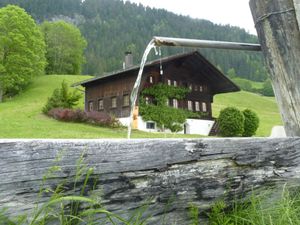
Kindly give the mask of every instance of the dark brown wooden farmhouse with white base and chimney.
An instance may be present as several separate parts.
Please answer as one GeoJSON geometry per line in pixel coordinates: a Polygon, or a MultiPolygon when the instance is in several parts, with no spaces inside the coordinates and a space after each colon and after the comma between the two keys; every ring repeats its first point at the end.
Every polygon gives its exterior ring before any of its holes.
{"type": "MultiPolygon", "coordinates": [[[[139,66],[132,66],[132,56],[125,56],[123,70],[92,78],[77,85],[85,87],[85,110],[102,111],[117,117],[124,125],[130,114],[130,93],[137,78],[139,66]]],[[[169,56],[145,65],[140,92],[158,83],[187,87],[191,91],[186,99],[169,99],[169,106],[194,112],[203,112],[204,119],[187,119],[184,133],[208,135],[213,127],[212,103],[215,94],[239,91],[239,87],[205,59],[199,52],[169,56]],[[160,67],[163,73],[160,73],[160,67]]],[[[151,96],[146,101],[151,102],[151,96]]],[[[143,121],[134,115],[135,129],[157,131],[153,121],[143,121]]]]}

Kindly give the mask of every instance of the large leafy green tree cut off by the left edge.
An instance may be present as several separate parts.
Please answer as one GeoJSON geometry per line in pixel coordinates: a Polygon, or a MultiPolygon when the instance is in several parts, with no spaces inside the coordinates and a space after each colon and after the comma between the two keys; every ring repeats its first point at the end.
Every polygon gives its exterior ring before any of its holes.
{"type": "Polygon", "coordinates": [[[44,73],[45,43],[34,20],[18,6],[0,9],[0,31],[0,89],[13,96],[44,73]]]}

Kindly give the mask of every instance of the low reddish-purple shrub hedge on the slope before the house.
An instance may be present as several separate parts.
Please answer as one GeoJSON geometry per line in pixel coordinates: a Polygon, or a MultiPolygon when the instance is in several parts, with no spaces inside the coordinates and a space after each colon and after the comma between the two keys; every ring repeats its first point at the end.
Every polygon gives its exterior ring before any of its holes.
{"type": "Polygon", "coordinates": [[[80,109],[62,109],[62,108],[54,108],[49,110],[47,113],[48,116],[65,122],[78,122],[78,123],[89,123],[97,126],[105,126],[105,127],[120,127],[120,122],[103,112],[85,112],[80,109]]]}

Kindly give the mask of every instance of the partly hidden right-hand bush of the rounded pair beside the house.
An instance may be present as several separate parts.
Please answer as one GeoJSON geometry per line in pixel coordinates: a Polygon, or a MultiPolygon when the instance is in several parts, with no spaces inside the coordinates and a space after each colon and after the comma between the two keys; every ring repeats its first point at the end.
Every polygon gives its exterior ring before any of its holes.
{"type": "Polygon", "coordinates": [[[245,117],[243,137],[251,137],[259,126],[259,118],[251,109],[245,109],[243,114],[245,117]]]}

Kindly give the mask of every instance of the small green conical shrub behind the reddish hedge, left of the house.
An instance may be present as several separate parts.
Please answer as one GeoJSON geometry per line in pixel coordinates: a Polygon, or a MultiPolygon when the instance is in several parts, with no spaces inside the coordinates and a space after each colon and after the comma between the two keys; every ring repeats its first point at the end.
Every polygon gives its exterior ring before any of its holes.
{"type": "Polygon", "coordinates": [[[81,94],[77,90],[73,92],[69,91],[68,84],[63,81],[61,83],[61,88],[56,88],[52,96],[48,98],[46,105],[43,108],[43,113],[47,114],[51,109],[63,108],[72,109],[77,105],[81,94]]]}

